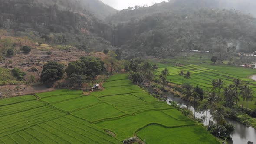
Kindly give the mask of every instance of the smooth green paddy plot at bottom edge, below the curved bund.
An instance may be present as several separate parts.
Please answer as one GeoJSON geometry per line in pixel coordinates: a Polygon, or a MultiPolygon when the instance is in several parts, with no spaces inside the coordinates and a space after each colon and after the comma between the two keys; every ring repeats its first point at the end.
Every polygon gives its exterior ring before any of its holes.
{"type": "Polygon", "coordinates": [[[200,125],[177,128],[150,125],[138,131],[137,135],[145,140],[147,144],[220,144],[210,133],[205,132],[200,125]]]}

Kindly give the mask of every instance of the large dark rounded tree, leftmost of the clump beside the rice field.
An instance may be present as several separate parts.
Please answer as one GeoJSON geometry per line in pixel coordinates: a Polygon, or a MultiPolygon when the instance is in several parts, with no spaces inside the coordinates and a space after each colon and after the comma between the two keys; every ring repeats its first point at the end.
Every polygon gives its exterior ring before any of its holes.
{"type": "Polygon", "coordinates": [[[59,79],[62,79],[64,75],[64,65],[57,62],[48,62],[43,65],[43,70],[41,73],[41,80],[44,84],[51,86],[53,83],[59,79]]]}

